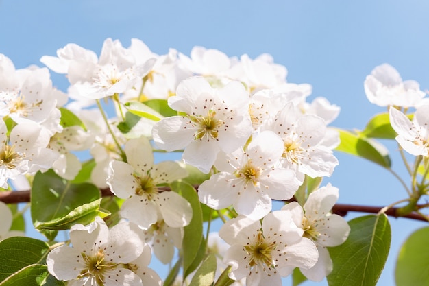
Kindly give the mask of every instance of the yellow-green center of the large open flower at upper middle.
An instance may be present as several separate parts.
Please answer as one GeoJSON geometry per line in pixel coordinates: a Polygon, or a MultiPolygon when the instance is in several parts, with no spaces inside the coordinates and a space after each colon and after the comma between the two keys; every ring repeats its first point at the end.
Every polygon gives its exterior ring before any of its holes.
{"type": "MultiPolygon", "coordinates": [[[[223,121],[216,118],[215,110],[208,110],[206,116],[194,116],[188,115],[189,119],[195,123],[197,132],[195,132],[195,139],[203,139],[204,136],[207,136],[207,139],[217,139],[219,134],[219,127],[223,125],[223,121]]],[[[194,125],[194,124],[193,124],[194,125]]]]}

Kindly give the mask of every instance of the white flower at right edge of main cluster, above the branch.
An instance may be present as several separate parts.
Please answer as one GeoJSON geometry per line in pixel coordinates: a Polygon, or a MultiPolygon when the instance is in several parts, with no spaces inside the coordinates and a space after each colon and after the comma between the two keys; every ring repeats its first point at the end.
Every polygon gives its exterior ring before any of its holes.
{"type": "Polygon", "coordinates": [[[266,127],[282,137],[284,150],[282,167],[294,169],[299,180],[304,174],[315,178],[330,176],[338,160],[332,151],[321,145],[326,135],[326,123],[315,115],[301,115],[289,102],[266,127]]]}

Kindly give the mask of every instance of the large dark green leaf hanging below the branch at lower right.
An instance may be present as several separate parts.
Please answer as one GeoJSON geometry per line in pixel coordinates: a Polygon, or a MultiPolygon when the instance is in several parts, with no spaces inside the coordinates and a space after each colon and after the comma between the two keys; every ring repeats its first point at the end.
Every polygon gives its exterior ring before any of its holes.
{"type": "Polygon", "coordinates": [[[366,215],[349,222],[345,243],[328,248],[334,263],[330,286],[376,285],[389,254],[391,228],[387,216],[366,215]]]}

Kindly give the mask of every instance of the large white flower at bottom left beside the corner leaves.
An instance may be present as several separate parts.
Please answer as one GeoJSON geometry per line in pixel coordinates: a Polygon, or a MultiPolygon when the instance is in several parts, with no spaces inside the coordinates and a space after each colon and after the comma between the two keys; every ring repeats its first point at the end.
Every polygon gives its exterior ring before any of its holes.
{"type": "Polygon", "coordinates": [[[58,280],[76,280],[73,285],[146,285],[134,261],[150,261],[150,252],[144,252],[145,237],[136,225],[123,222],[109,231],[96,217],[88,226],[72,226],[70,240],[73,247],[60,246],[47,257],[48,271],[58,280]]]}

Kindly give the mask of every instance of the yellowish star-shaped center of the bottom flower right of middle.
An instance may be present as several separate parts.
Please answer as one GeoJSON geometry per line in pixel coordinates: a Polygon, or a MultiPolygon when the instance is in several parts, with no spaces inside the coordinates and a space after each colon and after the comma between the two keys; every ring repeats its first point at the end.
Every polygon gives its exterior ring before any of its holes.
{"type": "Polygon", "coordinates": [[[256,235],[256,240],[253,245],[247,245],[244,247],[245,252],[250,255],[249,266],[253,267],[255,265],[275,265],[273,263],[273,255],[271,254],[275,250],[275,242],[265,241],[262,232],[259,231],[256,235]]]}

